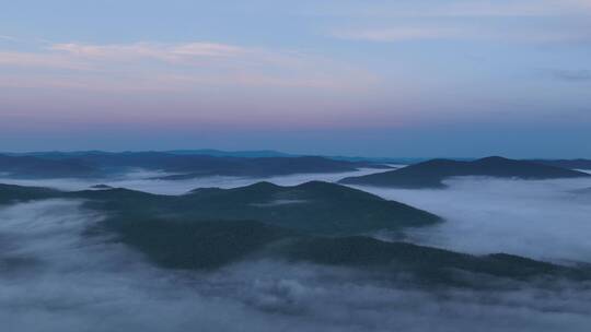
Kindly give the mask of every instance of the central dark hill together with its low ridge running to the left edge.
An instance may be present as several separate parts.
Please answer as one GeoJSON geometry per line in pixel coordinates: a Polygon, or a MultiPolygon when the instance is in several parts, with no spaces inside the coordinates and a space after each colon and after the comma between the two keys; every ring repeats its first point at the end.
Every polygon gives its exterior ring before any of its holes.
{"type": "MultiPolygon", "coordinates": [[[[123,188],[61,192],[7,186],[4,202],[70,198],[135,223],[165,218],[179,222],[254,220],[316,235],[357,235],[432,225],[441,218],[413,206],[344,186],[312,181],[293,187],[258,182],[234,189],[201,188],[183,195],[160,195],[123,188]]],[[[1,188],[0,188],[1,189],[1,188]]],[[[2,194],[3,193],[3,194],[2,194]]]]}

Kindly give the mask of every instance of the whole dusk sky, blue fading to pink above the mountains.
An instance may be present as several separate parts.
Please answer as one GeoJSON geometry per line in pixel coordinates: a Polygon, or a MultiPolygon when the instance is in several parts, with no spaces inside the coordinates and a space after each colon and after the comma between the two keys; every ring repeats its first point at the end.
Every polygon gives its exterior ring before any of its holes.
{"type": "Polygon", "coordinates": [[[0,7],[0,151],[591,157],[591,0],[0,7]]]}

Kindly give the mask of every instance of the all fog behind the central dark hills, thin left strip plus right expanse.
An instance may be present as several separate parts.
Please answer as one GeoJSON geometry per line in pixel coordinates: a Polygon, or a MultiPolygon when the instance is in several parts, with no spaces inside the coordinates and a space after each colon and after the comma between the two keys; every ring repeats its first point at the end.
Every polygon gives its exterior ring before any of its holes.
{"type": "MultiPolygon", "coordinates": [[[[181,194],[200,187],[235,188],[257,181],[293,186],[310,180],[336,181],[347,176],[383,171],[361,169],[334,174],[299,174],[269,178],[206,177],[190,180],[150,179],[162,175],[137,171],[108,181],[83,179],[0,182],[63,190],[97,183],[153,193],[181,194]]],[[[355,187],[436,213],[447,220],[436,227],[410,232],[409,240],[472,253],[507,252],[536,259],[591,262],[591,179],[515,180],[456,178],[447,189],[384,189],[355,187]]],[[[384,239],[384,235],[380,235],[384,239]]]]}

